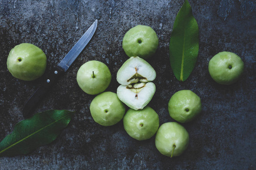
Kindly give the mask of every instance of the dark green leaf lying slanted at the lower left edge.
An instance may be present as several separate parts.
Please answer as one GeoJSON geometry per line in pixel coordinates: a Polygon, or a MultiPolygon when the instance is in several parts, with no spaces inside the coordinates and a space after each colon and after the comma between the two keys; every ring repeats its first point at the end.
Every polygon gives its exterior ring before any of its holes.
{"type": "Polygon", "coordinates": [[[69,122],[73,112],[51,110],[36,113],[14,126],[13,133],[0,143],[0,156],[28,154],[36,148],[53,142],[69,122]]]}

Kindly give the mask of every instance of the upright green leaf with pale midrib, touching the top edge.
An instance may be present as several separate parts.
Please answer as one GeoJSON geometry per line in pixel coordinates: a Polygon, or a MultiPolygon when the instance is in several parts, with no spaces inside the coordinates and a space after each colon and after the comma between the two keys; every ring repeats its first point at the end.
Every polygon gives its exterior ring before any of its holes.
{"type": "Polygon", "coordinates": [[[174,75],[185,81],[196,65],[199,52],[199,29],[187,0],[176,16],[169,49],[174,75]]]}

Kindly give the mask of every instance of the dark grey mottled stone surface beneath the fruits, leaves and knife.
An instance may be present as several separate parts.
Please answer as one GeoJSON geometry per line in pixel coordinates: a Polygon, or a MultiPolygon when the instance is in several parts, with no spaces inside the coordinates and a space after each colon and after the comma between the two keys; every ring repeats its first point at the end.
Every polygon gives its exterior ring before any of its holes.
{"type": "Polygon", "coordinates": [[[67,73],[49,91],[36,112],[48,109],[76,111],[59,138],[29,155],[0,158],[1,169],[255,169],[255,1],[191,0],[199,24],[199,57],[185,82],[172,73],[168,47],[172,27],[184,1],[7,1],[0,0],[0,140],[23,120],[22,107],[40,85],[11,76],[6,66],[10,50],[22,42],[39,46],[47,55],[47,71],[67,54],[85,30],[98,19],[98,28],[67,73]],[[116,92],[117,71],[127,56],[122,38],[137,24],[149,25],[159,37],[159,48],[148,62],[157,73],[150,107],[160,124],[174,121],[168,101],[179,90],[201,97],[203,112],[183,124],[190,141],[177,158],[161,155],[154,138],[136,141],[117,125],[96,124],[89,112],[92,95],[76,82],[82,63],[96,59],[109,66],[113,79],[107,91],[116,92]],[[245,62],[242,78],[221,86],[210,78],[208,62],[230,51],[245,62]]]}

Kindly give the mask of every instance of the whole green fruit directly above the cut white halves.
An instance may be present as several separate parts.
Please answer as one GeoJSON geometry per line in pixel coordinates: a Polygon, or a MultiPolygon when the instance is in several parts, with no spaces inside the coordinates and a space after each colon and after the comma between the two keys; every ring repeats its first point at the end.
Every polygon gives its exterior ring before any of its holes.
{"type": "Polygon", "coordinates": [[[139,56],[147,59],[152,57],[158,48],[158,36],[151,27],[137,25],[125,33],[122,47],[129,57],[139,56]]]}

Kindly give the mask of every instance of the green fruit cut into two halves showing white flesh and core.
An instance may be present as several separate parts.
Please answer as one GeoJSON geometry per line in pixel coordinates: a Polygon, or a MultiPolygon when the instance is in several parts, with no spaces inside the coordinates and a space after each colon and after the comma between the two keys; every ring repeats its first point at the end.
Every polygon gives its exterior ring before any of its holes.
{"type": "Polygon", "coordinates": [[[153,67],[140,57],[130,57],[117,71],[118,98],[128,107],[143,109],[155,94],[156,78],[153,67]]]}

